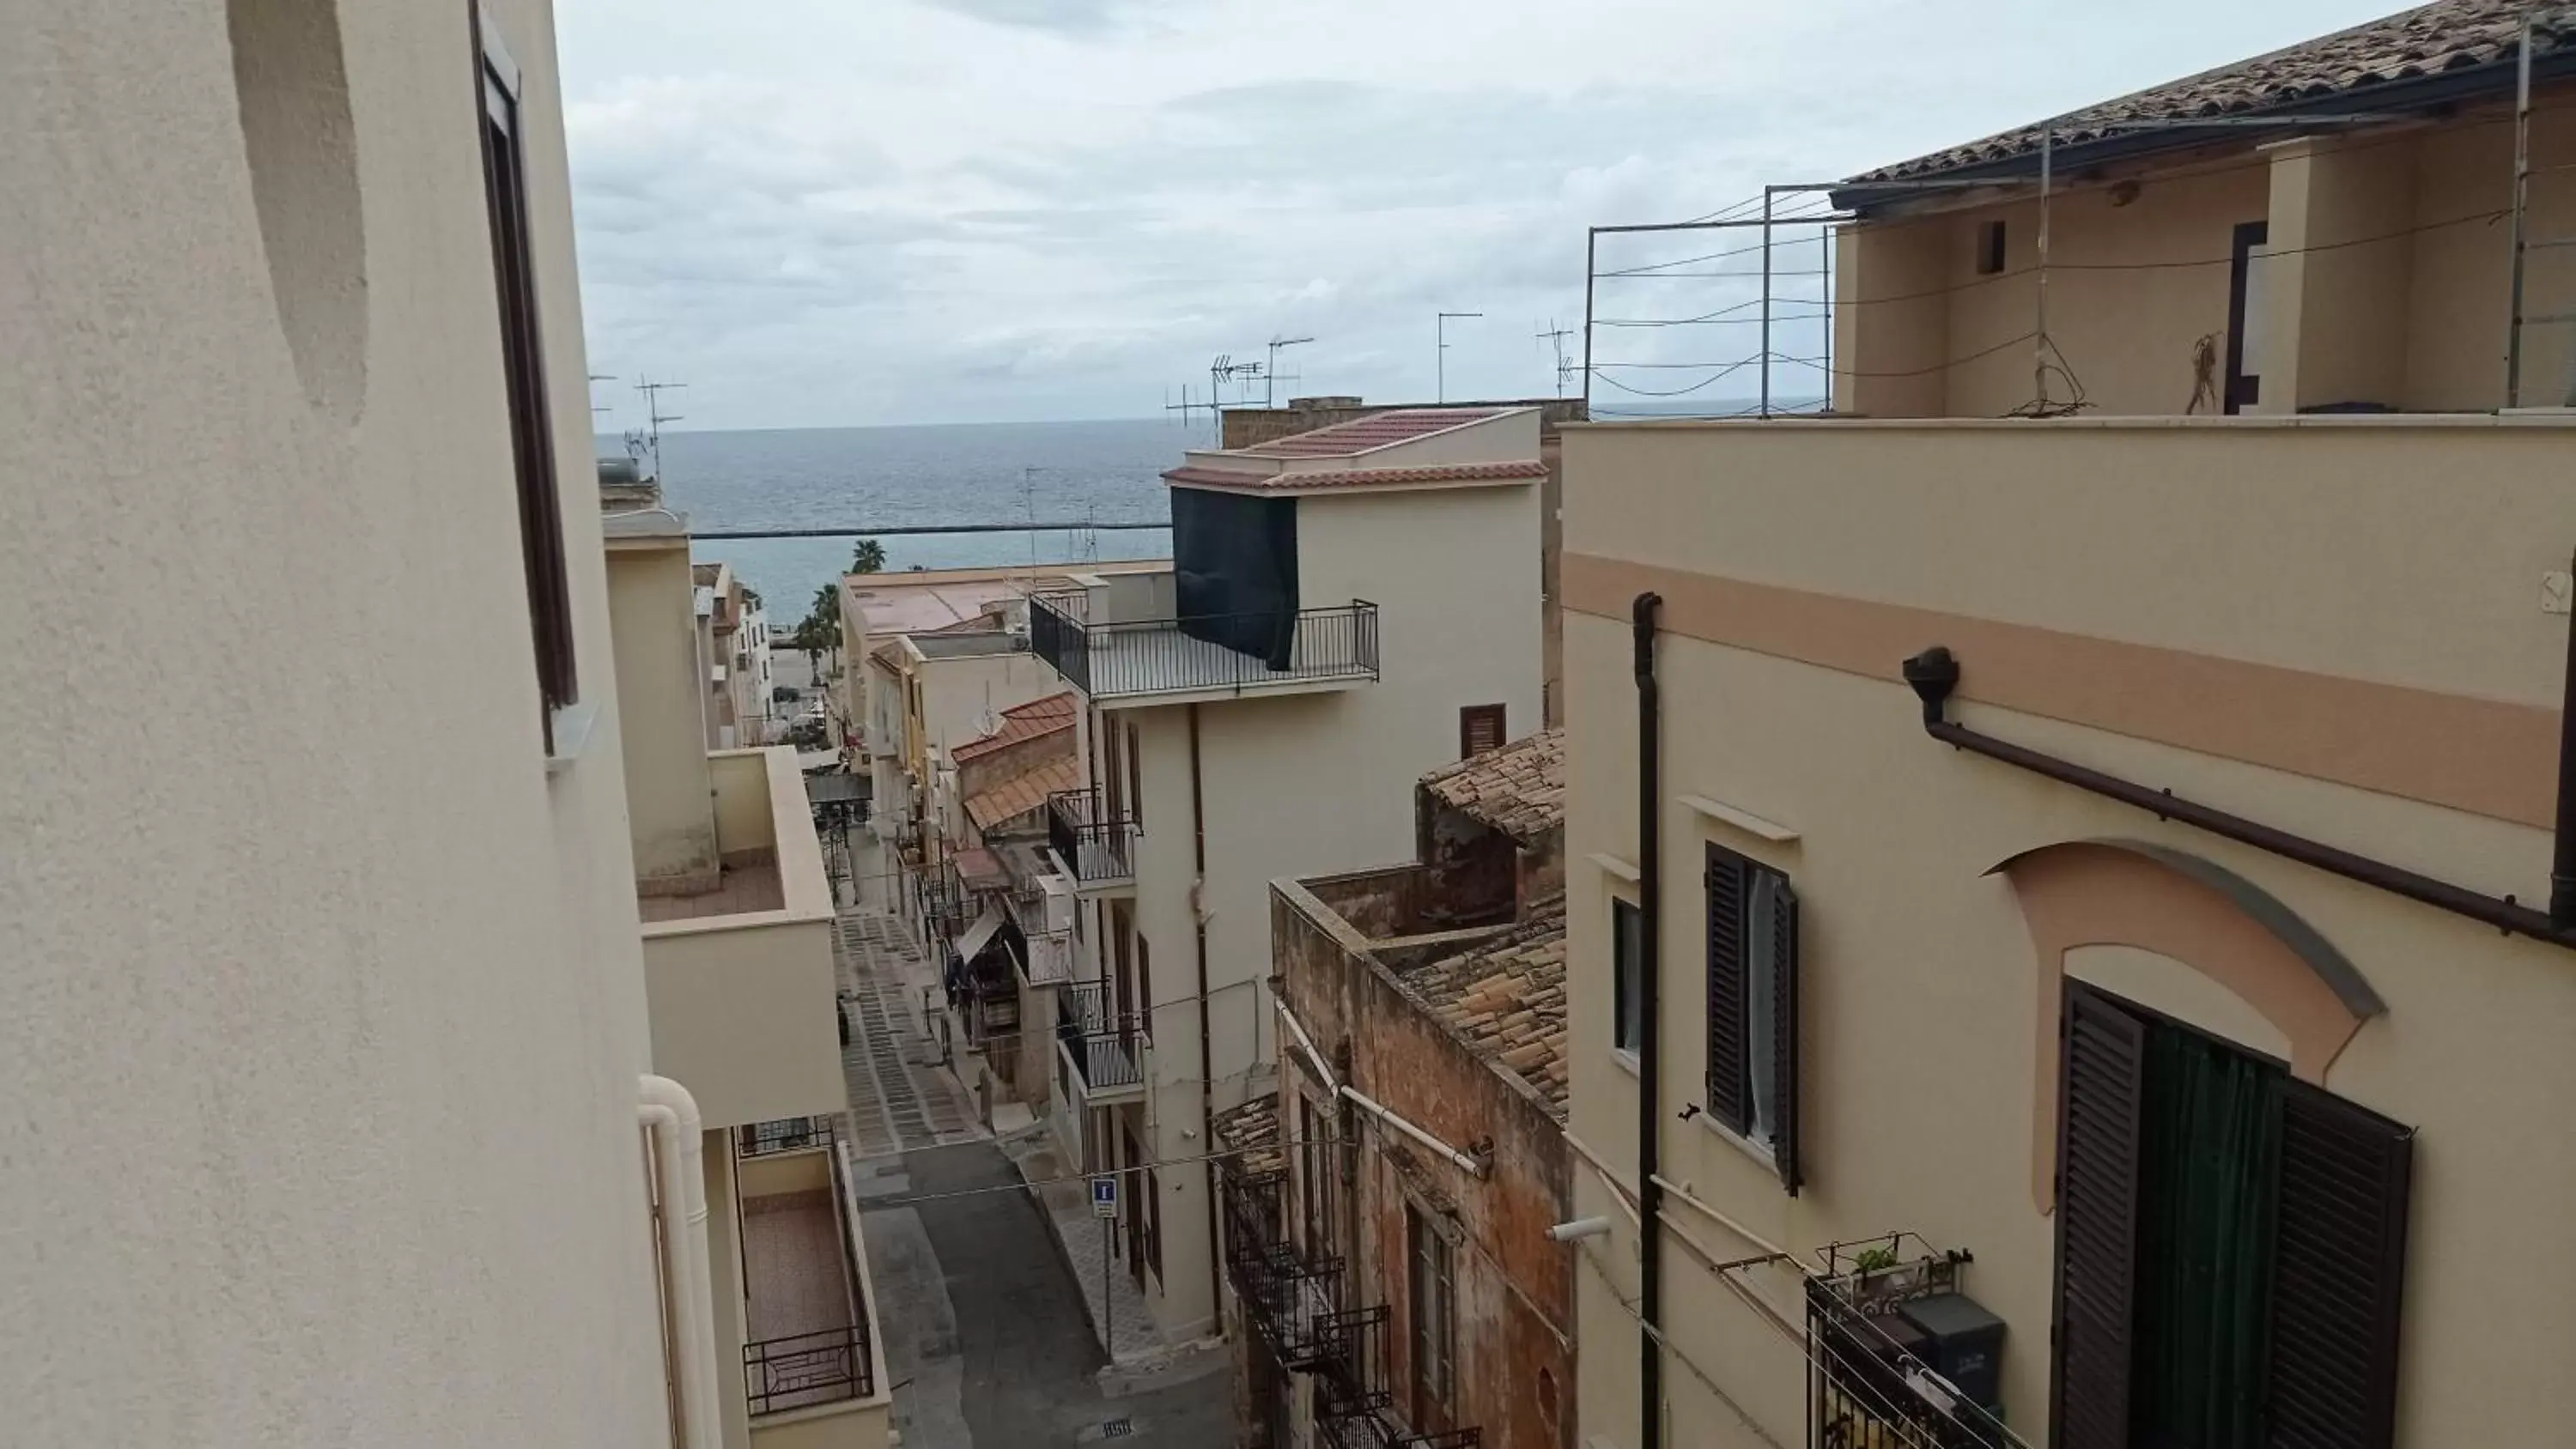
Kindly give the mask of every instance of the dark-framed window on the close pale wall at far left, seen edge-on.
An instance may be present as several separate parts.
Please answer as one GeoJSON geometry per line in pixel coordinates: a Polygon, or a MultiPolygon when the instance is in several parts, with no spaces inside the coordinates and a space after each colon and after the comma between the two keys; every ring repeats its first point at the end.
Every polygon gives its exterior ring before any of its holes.
{"type": "Polygon", "coordinates": [[[474,39],[484,106],[484,219],[492,226],[502,389],[510,407],[510,461],[518,476],[518,546],[528,571],[538,721],[551,754],[554,710],[580,700],[580,679],[572,649],[572,584],[564,569],[564,510],[554,484],[546,345],[536,319],[536,260],[528,245],[528,157],[520,142],[518,67],[510,64],[500,39],[484,31],[479,13],[474,39]]]}

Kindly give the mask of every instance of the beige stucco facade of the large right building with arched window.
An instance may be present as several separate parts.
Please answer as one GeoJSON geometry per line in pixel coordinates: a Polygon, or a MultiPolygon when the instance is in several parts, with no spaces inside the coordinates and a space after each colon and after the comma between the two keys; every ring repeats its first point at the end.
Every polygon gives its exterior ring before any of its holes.
{"type": "MultiPolygon", "coordinates": [[[[1803,592],[1767,595],[1780,618],[1829,607],[1811,602],[1824,597],[2043,625],[2074,636],[2071,674],[2099,638],[2555,705],[2568,625],[2540,613],[2537,579],[2576,535],[2555,463],[2566,450],[2566,430],[2491,422],[1589,430],[1566,443],[1566,548],[1803,592]]],[[[1628,623],[1602,618],[1602,605],[1625,610],[1625,592],[1605,574],[1592,613],[1566,623],[1577,862],[1636,857],[1628,623]]],[[[1793,1251],[1888,1228],[1973,1251],[1968,1289],[2009,1323],[2007,1418],[2043,1441],[2053,1225],[2032,1194],[2040,963],[2012,885],[1986,870],[2069,839],[2159,842],[2277,896],[2388,1001],[2326,1086],[2419,1130],[2398,1441],[2548,1436],[2576,1410],[2548,1336],[2501,1328],[2550,1323],[2571,1277],[2496,1251],[2545,1235],[2576,1192],[2576,1156],[2555,1145],[2576,1094],[2561,1050],[2576,1029],[2566,952],[1942,749],[1893,656],[1855,672],[1783,643],[1672,633],[1659,661],[1669,795],[1798,834],[1767,842],[1667,803],[1664,1104],[1703,1099],[1703,842],[1793,875],[1808,993],[1806,1192],[1785,1197],[1765,1163],[1682,1122],[1662,1138],[1669,1179],[1793,1251]]],[[[2476,891],[2545,891],[2548,836],[2527,824],[1984,705],[1978,656],[1960,664],[1953,713],[1976,728],[2476,891]]],[[[2123,708],[2146,718],[2143,700],[2123,708]]],[[[2208,697],[2208,710],[2231,708],[2244,703],[2208,697]]],[[[2483,741],[2424,749],[2473,754],[2483,741]]],[[[1636,1086],[1607,1053],[1605,1011],[1618,893],[1633,885],[1577,865],[1571,1130],[1633,1168],[1636,1086]]],[[[2076,975],[2277,1048],[2244,1001],[2169,960],[2074,955],[2076,975]]],[[[1618,1215],[1589,1174],[1577,1197],[1577,1212],[1618,1215]]],[[[1754,1251],[1680,1215],[1721,1253],[1754,1251]]],[[[1620,1307],[1636,1292],[1631,1243],[1620,1220],[1579,1271],[1582,1431],[1613,1444],[1636,1439],[1636,1325],[1620,1307]]],[[[1677,1349],[1795,1441],[1795,1349],[1731,1297],[1700,1292],[1703,1277],[1667,1251],[1677,1349]]],[[[1765,1289],[1795,1305],[1785,1274],[1765,1289]]],[[[1669,1444],[1754,1444],[1690,1372],[1664,1382],[1669,1444]]]]}

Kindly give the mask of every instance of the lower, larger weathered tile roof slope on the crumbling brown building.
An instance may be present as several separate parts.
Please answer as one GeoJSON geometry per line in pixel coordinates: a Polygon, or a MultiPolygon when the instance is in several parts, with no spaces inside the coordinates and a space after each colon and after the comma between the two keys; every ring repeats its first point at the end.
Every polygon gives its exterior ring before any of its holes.
{"type": "Polygon", "coordinates": [[[1566,1120],[1566,898],[1551,896],[1510,932],[1401,975],[1494,1071],[1530,1084],[1566,1120]]]}

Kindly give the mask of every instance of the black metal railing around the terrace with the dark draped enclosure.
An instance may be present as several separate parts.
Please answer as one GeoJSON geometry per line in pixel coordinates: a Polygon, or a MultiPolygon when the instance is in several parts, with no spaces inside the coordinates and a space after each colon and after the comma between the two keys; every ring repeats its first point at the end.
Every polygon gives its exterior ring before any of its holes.
{"type": "Polygon", "coordinates": [[[1095,700],[1378,677],[1378,605],[1365,600],[1087,623],[1072,597],[1038,595],[1028,605],[1028,638],[1038,659],[1095,700]]]}

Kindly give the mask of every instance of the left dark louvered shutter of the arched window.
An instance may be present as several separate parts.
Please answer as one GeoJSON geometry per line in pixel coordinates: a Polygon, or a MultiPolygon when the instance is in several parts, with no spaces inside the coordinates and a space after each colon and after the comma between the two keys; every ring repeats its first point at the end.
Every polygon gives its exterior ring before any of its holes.
{"type": "Polygon", "coordinates": [[[2146,1022],[2069,981],[2058,1058],[2050,1441],[2056,1449],[2128,1449],[2146,1022]]]}

